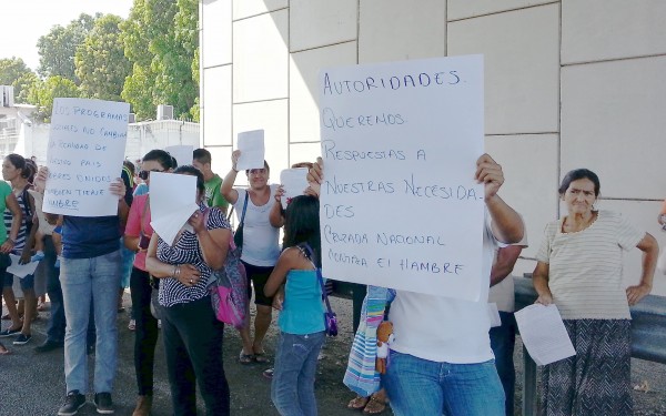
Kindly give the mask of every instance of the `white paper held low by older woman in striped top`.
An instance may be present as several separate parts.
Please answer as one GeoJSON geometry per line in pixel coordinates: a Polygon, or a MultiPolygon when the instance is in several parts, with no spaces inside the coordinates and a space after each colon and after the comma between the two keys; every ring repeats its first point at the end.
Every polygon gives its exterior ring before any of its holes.
{"type": "Polygon", "coordinates": [[[537,365],[576,355],[555,304],[529,305],[515,313],[523,344],[537,365]]]}

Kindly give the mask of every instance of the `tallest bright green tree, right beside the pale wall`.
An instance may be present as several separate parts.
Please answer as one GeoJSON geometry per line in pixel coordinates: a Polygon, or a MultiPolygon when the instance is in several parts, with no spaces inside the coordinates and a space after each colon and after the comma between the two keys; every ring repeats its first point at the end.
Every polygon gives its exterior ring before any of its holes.
{"type": "Polygon", "coordinates": [[[198,49],[198,0],[134,0],[121,24],[125,55],[133,63],[122,98],[138,119],[155,116],[158,104],[190,116],[199,97],[192,62],[198,49]]]}

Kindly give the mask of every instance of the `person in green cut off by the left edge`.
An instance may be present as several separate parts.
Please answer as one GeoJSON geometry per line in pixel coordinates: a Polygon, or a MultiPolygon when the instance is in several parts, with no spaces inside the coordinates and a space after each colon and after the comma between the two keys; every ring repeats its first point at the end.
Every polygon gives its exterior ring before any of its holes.
{"type": "MultiPolygon", "coordinates": [[[[10,262],[9,253],[11,253],[16,245],[16,241],[19,239],[18,236],[23,219],[17,196],[12,192],[11,186],[4,181],[0,181],[0,211],[9,211],[12,220],[9,230],[7,229],[4,221],[0,222],[0,283],[2,283],[0,284],[0,287],[4,287],[3,282],[10,262]]],[[[1,297],[2,291],[0,291],[0,305],[2,304],[1,297]]],[[[0,355],[7,354],[9,354],[9,349],[0,343],[0,355]]]]}

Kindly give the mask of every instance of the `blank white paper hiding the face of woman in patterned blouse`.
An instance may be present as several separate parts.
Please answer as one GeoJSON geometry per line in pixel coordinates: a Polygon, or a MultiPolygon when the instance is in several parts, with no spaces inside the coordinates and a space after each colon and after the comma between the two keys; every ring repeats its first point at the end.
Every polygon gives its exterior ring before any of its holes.
{"type": "Polygon", "coordinates": [[[150,174],[150,225],[169,245],[178,232],[185,227],[190,215],[199,209],[196,176],[152,172],[150,174]]]}

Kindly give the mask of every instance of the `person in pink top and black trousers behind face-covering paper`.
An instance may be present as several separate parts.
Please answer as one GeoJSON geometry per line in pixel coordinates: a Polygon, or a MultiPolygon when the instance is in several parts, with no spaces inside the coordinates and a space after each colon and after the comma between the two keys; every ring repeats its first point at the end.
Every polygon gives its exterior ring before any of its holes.
{"type": "MultiPolygon", "coordinates": [[[[171,172],[173,158],[163,150],[151,150],[143,156],[142,171],[139,175],[150,186],[151,172],[171,172]]],[[[132,295],[132,311],[135,319],[134,334],[134,372],[137,374],[138,398],[137,408],[132,416],[148,416],[152,408],[153,398],[153,367],[155,346],[158,344],[158,319],[150,312],[153,288],[158,288],[159,280],[151,280],[145,268],[145,253],[148,242],[153,234],[150,225],[149,194],[134,196],[128,224],[124,232],[124,246],[137,253],[130,290],[132,295]]]]}

